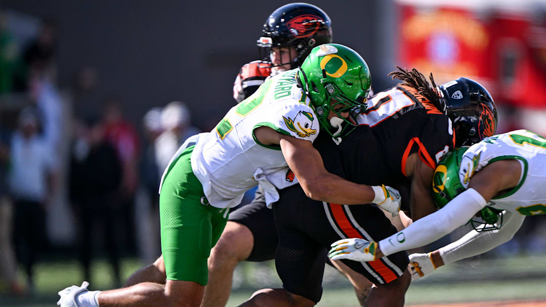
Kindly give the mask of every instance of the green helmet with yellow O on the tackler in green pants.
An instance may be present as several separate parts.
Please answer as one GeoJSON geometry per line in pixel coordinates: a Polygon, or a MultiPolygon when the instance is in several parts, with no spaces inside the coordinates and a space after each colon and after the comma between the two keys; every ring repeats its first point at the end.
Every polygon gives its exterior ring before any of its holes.
{"type": "Polygon", "coordinates": [[[355,116],[366,110],[371,78],[366,61],[356,51],[340,44],[314,47],[301,64],[298,78],[319,123],[332,137],[343,137],[357,126],[355,116]],[[337,118],[329,121],[330,111],[337,118]],[[349,118],[342,112],[349,112],[349,118]]]}

